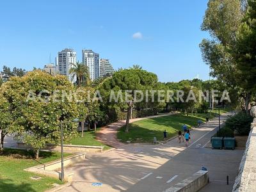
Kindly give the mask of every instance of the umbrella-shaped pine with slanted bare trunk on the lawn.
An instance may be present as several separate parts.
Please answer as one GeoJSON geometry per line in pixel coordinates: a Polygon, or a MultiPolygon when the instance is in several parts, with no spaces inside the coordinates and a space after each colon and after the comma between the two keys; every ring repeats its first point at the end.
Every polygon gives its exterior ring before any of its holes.
{"type": "MultiPolygon", "coordinates": [[[[126,132],[129,131],[129,119],[131,118],[132,108],[136,107],[136,102],[133,100],[136,94],[136,90],[152,90],[156,88],[157,76],[146,70],[140,68],[129,68],[118,70],[113,74],[113,77],[109,77],[100,88],[102,98],[104,99],[103,106],[111,106],[111,108],[124,108],[127,109],[127,124],[126,132]],[[121,92],[122,99],[118,99],[117,102],[109,102],[111,90],[117,93],[121,92]],[[125,101],[125,92],[129,90],[130,97],[125,101]],[[129,101],[130,100],[130,101],[129,101]]],[[[145,94],[144,94],[145,96],[145,94]]]]}

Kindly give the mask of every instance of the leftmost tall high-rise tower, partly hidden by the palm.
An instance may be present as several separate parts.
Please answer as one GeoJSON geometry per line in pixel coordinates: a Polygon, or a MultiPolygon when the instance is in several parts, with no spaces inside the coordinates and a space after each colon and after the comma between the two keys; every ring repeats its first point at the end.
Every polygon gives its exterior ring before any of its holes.
{"type": "Polygon", "coordinates": [[[70,68],[73,67],[72,63],[76,63],[76,51],[73,49],[63,49],[58,52],[58,58],[56,58],[57,73],[63,76],[67,76],[69,81],[76,81],[72,79],[72,74],[69,74],[70,68]]]}

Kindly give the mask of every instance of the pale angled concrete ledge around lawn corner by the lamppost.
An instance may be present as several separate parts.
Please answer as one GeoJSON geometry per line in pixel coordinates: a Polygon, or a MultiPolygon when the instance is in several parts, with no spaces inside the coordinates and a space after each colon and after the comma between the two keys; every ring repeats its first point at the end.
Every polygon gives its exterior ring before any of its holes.
{"type": "MultiPolygon", "coordinates": [[[[70,166],[71,164],[77,163],[79,161],[83,161],[84,159],[85,159],[85,154],[78,154],[78,155],[66,157],[63,163],[64,163],[64,166],[70,166]]],[[[39,164],[30,168],[26,168],[24,169],[24,171],[60,179],[61,172],[58,171],[60,170],[60,168],[61,168],[61,160],[58,159],[56,161],[51,161],[49,163],[39,164]]],[[[68,174],[66,173],[64,175],[64,180],[66,182],[72,182],[72,175],[73,173],[68,173],[68,174]]]]}

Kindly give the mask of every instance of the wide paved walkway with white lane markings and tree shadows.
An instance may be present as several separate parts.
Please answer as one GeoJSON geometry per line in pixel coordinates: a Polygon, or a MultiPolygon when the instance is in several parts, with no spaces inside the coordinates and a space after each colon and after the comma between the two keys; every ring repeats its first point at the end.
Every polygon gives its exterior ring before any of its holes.
{"type": "Polygon", "coordinates": [[[205,148],[217,129],[218,118],[194,129],[189,147],[175,139],[164,145],[122,145],[102,154],[88,153],[86,160],[67,168],[65,173],[73,172],[74,181],[61,191],[163,191],[202,166],[209,170],[211,181],[202,191],[231,191],[244,150],[205,148]],[[225,186],[227,175],[230,186],[225,186]]]}

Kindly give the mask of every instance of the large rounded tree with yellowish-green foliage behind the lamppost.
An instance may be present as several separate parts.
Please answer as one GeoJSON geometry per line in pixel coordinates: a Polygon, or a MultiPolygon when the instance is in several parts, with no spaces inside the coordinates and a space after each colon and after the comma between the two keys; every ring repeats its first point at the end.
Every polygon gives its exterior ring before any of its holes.
{"type": "Polygon", "coordinates": [[[76,132],[77,124],[70,123],[78,116],[72,95],[70,99],[74,86],[66,77],[34,70],[23,77],[11,77],[3,86],[12,109],[12,132],[35,149],[36,158],[46,143],[60,142],[61,121],[65,140],[76,132]]]}

